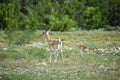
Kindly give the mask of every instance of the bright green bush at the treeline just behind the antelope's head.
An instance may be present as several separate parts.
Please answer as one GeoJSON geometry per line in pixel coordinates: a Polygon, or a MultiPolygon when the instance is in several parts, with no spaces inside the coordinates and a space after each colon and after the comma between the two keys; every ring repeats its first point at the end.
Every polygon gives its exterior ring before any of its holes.
{"type": "Polygon", "coordinates": [[[73,28],[77,28],[77,22],[73,19],[70,19],[68,15],[64,16],[50,16],[50,25],[51,30],[59,31],[69,31],[73,28]]]}

